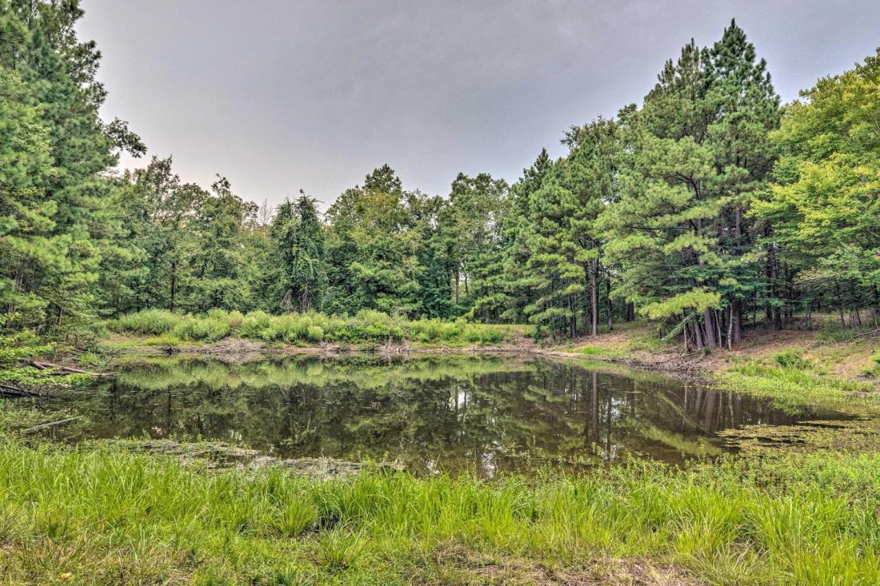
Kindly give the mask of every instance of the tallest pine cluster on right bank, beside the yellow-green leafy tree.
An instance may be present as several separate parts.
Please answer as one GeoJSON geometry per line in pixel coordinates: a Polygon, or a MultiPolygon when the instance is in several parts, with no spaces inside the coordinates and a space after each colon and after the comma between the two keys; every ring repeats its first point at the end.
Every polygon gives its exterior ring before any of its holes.
{"type": "Polygon", "coordinates": [[[697,348],[737,341],[741,300],[760,286],[743,216],[766,182],[778,104],[766,63],[731,23],[712,49],[686,45],[627,114],[620,198],[600,221],[606,251],[625,266],[629,300],[697,348]]]}

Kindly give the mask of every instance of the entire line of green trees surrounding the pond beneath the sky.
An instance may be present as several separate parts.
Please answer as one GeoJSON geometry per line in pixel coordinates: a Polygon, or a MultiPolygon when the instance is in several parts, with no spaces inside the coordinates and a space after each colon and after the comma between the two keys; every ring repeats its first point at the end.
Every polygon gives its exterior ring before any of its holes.
{"type": "Polygon", "coordinates": [[[0,0],[0,303],[5,332],[62,336],[145,308],[531,323],[574,337],[642,315],[688,348],[744,327],[880,309],[880,53],[783,106],[731,22],[686,44],[641,105],[564,133],[512,185],[449,194],[389,165],[321,213],[180,180],[102,121],[78,3],[0,0]]]}

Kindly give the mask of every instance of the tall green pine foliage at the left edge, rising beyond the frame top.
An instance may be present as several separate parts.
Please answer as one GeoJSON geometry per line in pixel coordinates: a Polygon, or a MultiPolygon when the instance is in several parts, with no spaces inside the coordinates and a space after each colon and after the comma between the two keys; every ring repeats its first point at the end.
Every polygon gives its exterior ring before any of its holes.
{"type": "Polygon", "coordinates": [[[0,4],[4,329],[84,333],[136,255],[118,245],[119,194],[103,172],[117,148],[138,156],[143,145],[124,122],[99,119],[106,92],[97,48],[77,40],[82,14],[76,1],[0,4]]]}

